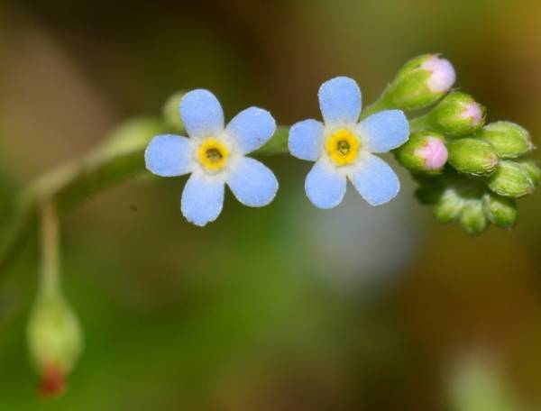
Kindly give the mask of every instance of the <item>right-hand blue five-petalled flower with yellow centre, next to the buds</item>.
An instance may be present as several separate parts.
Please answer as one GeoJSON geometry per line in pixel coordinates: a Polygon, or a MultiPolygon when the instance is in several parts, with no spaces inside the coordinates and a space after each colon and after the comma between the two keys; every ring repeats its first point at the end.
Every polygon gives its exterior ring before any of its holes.
{"type": "Polygon", "coordinates": [[[305,182],[310,201],[319,208],[339,205],[349,179],[369,204],[389,202],[399,193],[399,178],[374,153],[390,151],[408,141],[404,113],[385,110],[359,123],[361,90],[351,78],[327,81],[318,96],[325,123],[305,120],[289,130],[291,154],[316,161],[305,182]]]}

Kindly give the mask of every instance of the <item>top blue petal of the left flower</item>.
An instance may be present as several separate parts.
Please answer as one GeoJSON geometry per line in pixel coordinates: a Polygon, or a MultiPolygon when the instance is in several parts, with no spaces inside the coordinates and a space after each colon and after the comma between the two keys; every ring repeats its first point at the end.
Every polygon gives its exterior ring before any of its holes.
{"type": "Polygon", "coordinates": [[[206,137],[224,130],[222,105],[208,90],[193,90],[182,97],[180,118],[190,137],[206,137]]]}

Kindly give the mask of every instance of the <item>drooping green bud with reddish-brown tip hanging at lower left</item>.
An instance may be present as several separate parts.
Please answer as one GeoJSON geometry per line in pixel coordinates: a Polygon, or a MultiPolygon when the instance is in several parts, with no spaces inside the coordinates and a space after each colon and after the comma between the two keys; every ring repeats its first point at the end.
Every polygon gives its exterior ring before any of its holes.
{"type": "Polygon", "coordinates": [[[81,352],[77,316],[58,293],[38,297],[28,324],[28,345],[41,374],[41,394],[55,396],[81,352]]]}

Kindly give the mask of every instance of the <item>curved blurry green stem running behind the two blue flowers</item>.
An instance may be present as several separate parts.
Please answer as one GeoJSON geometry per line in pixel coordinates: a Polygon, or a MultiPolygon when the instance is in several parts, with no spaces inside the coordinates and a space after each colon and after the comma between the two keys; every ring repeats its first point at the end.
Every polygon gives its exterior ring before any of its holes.
{"type": "MultiPolygon", "coordinates": [[[[61,215],[106,187],[145,171],[144,151],[148,142],[154,135],[168,130],[157,119],[136,122],[139,123],[124,124],[95,151],[51,169],[23,189],[0,237],[0,276],[5,274],[24,240],[32,233],[39,209],[45,201],[53,201],[61,215]]],[[[253,154],[285,153],[288,151],[287,142],[288,128],[279,127],[271,141],[253,154]]]]}

